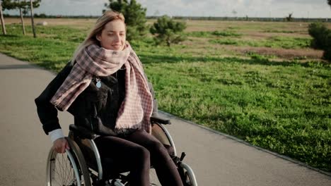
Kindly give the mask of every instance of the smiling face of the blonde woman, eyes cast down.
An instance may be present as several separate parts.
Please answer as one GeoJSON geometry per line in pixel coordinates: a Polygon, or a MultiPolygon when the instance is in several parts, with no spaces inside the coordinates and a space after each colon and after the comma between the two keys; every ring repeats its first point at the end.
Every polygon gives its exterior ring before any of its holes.
{"type": "Polygon", "coordinates": [[[97,36],[100,45],[108,50],[122,50],[125,46],[125,25],[122,20],[112,20],[105,25],[97,36]]]}

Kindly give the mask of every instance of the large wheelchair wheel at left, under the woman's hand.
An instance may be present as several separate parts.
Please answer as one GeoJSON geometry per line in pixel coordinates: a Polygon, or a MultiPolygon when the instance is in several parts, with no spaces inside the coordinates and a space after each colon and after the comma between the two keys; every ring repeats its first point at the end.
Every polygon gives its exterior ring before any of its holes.
{"type": "Polygon", "coordinates": [[[69,150],[64,154],[58,154],[50,150],[47,159],[46,183],[47,186],[91,186],[83,154],[76,142],[66,137],[69,150]]]}

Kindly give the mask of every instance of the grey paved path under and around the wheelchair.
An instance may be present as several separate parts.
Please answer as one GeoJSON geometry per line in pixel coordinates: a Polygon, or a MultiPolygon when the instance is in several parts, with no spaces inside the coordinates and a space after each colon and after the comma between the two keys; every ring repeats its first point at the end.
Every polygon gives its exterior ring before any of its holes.
{"type": "MultiPolygon", "coordinates": [[[[47,152],[34,99],[53,73],[0,54],[0,185],[45,185],[47,152]]],[[[192,166],[200,186],[318,185],[330,186],[331,177],[274,156],[226,135],[200,128],[178,118],[168,127],[178,151],[192,166]]],[[[59,114],[62,128],[73,123],[59,114]]]]}

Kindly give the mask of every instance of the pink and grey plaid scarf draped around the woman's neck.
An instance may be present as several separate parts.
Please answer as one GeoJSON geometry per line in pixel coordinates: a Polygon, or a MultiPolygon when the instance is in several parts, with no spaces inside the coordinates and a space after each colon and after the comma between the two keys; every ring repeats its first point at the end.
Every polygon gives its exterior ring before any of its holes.
{"type": "Polygon", "coordinates": [[[79,53],[76,63],[51,103],[66,111],[76,97],[90,85],[93,75],[108,76],[125,66],[125,98],[117,114],[115,129],[137,128],[151,132],[153,99],[144,70],[129,43],[122,51],[104,49],[91,44],[79,53]]]}

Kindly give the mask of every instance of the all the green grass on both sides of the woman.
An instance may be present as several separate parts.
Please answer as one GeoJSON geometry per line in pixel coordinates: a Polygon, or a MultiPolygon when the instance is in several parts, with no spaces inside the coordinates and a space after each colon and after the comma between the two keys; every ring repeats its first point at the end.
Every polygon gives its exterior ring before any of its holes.
{"type": "MultiPolygon", "coordinates": [[[[7,25],[7,32],[11,35],[0,36],[2,53],[59,71],[87,30],[37,27],[37,39],[21,36],[17,25],[7,25]]],[[[300,48],[307,40],[272,37],[268,42],[300,48]]],[[[331,171],[330,63],[279,62],[259,54],[223,58],[210,51],[192,55],[182,50],[197,45],[153,46],[151,38],[132,46],[163,111],[331,171]]]]}

